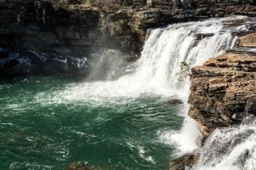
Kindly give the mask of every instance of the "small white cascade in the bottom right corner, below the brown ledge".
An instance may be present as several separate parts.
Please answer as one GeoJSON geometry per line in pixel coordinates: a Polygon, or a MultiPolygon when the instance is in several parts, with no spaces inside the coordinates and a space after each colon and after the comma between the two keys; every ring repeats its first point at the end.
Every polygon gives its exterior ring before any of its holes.
{"type": "Polygon", "coordinates": [[[204,144],[196,170],[239,170],[256,167],[256,120],[247,117],[239,127],[216,129],[204,144]]]}

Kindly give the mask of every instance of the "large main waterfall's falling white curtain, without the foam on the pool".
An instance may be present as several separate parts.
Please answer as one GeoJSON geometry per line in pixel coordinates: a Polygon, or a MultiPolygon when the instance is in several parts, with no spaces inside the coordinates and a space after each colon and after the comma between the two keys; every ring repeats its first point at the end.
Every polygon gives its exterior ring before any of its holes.
{"type": "Polygon", "coordinates": [[[145,42],[135,73],[125,78],[136,82],[140,90],[187,97],[190,69],[223,53],[232,40],[231,31],[224,29],[219,20],[155,29],[145,42]]]}

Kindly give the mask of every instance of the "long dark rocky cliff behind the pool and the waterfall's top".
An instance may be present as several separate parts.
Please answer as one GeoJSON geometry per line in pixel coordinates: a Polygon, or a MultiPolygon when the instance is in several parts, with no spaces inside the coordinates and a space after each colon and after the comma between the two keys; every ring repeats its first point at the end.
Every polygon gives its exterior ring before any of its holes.
{"type": "Polygon", "coordinates": [[[0,47],[9,54],[0,56],[5,60],[0,72],[86,72],[84,60],[102,48],[137,59],[148,28],[230,14],[256,16],[255,11],[255,2],[246,0],[1,0],[0,47]]]}

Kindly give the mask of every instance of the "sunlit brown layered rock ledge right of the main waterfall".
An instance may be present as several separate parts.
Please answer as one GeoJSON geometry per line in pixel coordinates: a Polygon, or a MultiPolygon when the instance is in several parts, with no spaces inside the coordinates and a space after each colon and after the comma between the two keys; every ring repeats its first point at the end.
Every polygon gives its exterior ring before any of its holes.
{"type": "Polygon", "coordinates": [[[256,113],[256,54],[227,53],[192,69],[189,116],[206,138],[256,113]]]}

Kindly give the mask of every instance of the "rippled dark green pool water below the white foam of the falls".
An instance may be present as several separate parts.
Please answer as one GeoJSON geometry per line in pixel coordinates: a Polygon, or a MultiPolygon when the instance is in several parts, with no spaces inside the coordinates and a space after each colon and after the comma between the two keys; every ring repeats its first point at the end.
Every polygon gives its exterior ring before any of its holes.
{"type": "Polygon", "coordinates": [[[160,132],[181,128],[183,105],[153,94],[65,99],[68,87],[83,83],[70,77],[0,80],[0,169],[58,170],[77,161],[104,170],[168,169],[175,148],[160,132]]]}

